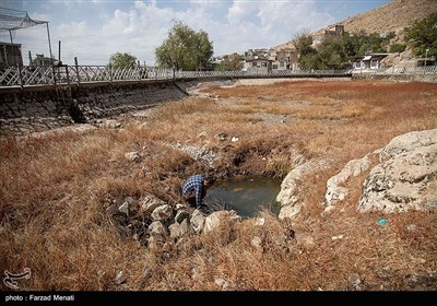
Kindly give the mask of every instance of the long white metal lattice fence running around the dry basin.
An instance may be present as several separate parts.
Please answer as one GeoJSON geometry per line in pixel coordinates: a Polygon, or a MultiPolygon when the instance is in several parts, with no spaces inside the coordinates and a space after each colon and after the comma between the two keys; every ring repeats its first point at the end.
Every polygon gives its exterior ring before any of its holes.
{"type": "Polygon", "coordinates": [[[50,84],[80,84],[86,82],[177,80],[198,78],[323,78],[366,74],[437,74],[437,66],[418,68],[385,68],[377,70],[273,70],[250,69],[247,71],[175,71],[150,67],[113,69],[110,66],[60,66],[60,67],[10,67],[0,71],[0,87],[50,84]]]}

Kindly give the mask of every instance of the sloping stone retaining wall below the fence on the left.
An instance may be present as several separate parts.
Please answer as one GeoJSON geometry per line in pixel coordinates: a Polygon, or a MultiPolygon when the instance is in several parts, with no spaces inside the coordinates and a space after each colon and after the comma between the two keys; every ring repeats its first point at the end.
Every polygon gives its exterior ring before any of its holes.
{"type": "Polygon", "coordinates": [[[0,136],[27,134],[74,123],[93,123],[185,97],[197,83],[180,81],[117,82],[32,86],[0,91],[0,136]]]}

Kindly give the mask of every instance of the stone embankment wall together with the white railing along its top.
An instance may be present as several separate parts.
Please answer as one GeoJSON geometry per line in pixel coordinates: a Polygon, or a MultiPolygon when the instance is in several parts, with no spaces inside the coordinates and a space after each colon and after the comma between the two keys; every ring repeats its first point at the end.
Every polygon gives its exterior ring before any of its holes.
{"type": "Polygon", "coordinates": [[[205,81],[260,78],[427,78],[437,67],[415,70],[175,71],[108,66],[10,67],[0,72],[0,137],[24,136],[75,123],[93,123],[156,104],[184,98],[205,81]]]}

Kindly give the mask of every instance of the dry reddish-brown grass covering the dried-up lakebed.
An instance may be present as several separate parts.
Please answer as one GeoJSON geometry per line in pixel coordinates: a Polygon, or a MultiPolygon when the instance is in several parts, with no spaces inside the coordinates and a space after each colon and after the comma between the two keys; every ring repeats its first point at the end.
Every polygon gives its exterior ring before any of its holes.
{"type": "Polygon", "coordinates": [[[2,139],[2,270],[28,267],[21,289],[44,291],[437,289],[435,212],[358,214],[361,176],[342,209],[321,216],[326,181],[350,160],[395,136],[437,128],[435,84],[294,81],[204,91],[216,98],[125,117],[120,130],[2,139]],[[121,235],[104,204],[146,195],[176,204],[181,180],[211,166],[174,143],[214,150],[221,178],[283,177],[293,152],[329,167],[303,181],[307,204],[297,222],[264,212],[263,226],[249,220],[177,246],[167,242],[163,257],[163,248],[121,235]],[[142,154],[139,163],[125,157],[132,151],[142,154]],[[380,217],[388,223],[378,225],[380,217]],[[117,284],[119,271],[126,280],[117,284]]]}

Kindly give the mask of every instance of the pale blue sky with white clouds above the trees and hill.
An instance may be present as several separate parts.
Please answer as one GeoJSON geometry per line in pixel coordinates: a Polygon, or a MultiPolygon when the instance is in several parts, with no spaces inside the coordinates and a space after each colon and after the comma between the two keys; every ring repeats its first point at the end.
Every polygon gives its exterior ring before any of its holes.
{"type": "MultiPolygon", "coordinates": [[[[1,0],[0,7],[26,11],[48,21],[51,51],[63,63],[107,64],[115,52],[128,52],[141,64],[154,66],[155,49],[167,38],[175,21],[203,30],[214,56],[270,48],[303,31],[318,31],[381,7],[390,0],[1,0]]],[[[28,51],[49,56],[47,26],[12,32],[28,51]]],[[[0,32],[0,42],[11,42],[0,32]]]]}

